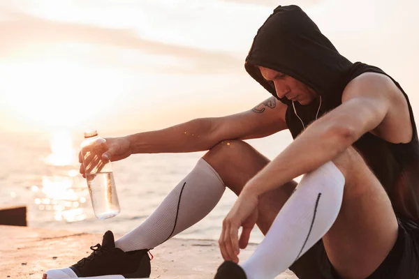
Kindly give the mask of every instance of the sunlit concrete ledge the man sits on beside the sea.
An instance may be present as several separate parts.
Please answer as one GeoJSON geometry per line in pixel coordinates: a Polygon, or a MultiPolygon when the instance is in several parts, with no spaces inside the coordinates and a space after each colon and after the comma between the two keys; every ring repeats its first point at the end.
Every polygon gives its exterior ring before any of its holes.
{"type": "MultiPolygon", "coordinates": [[[[100,234],[0,225],[0,279],[41,279],[48,269],[70,266],[87,257],[89,247],[101,241],[100,234]]],[[[240,259],[247,259],[255,248],[250,245],[240,259]]],[[[216,241],[208,240],[170,239],[152,254],[153,279],[212,279],[223,262],[216,241]]],[[[291,271],[277,277],[296,278],[291,271]]]]}

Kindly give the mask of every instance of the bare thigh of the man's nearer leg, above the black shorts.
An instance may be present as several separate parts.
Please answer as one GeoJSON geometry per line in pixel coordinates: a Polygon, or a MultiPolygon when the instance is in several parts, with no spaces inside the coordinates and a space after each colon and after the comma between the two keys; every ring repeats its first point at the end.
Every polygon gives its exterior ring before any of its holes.
{"type": "Polygon", "coordinates": [[[346,185],[341,211],[323,243],[341,277],[366,278],[394,246],[397,218],[383,186],[355,149],[347,149],[334,163],[346,185]]]}

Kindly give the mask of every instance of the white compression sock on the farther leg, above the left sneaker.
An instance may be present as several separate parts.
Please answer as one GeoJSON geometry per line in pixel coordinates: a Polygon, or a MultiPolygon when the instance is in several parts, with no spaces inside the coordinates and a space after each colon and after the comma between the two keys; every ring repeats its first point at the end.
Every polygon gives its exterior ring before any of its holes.
{"type": "Polygon", "coordinates": [[[226,190],[203,158],[140,226],[115,242],[123,251],[151,249],[207,216],[226,190]]]}

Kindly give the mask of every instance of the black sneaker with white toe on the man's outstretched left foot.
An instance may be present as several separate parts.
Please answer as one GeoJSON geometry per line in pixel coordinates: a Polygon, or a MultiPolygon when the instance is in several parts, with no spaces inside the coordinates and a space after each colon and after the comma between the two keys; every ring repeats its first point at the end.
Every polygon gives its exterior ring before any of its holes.
{"type": "Polygon", "coordinates": [[[43,279],[124,279],[149,278],[151,273],[149,250],[124,252],[115,248],[111,231],[105,232],[101,244],[90,248],[89,257],[65,269],[51,269],[44,273],[43,279]]]}

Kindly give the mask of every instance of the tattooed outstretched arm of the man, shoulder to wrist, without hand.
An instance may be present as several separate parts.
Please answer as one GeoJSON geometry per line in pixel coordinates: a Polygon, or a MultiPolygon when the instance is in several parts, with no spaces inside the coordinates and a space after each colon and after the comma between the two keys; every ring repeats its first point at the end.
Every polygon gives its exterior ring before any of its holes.
{"type": "Polygon", "coordinates": [[[286,129],[286,105],[274,97],[252,110],[223,117],[193,119],[163,130],[128,135],[132,153],[205,151],[223,140],[266,137],[286,129]]]}

